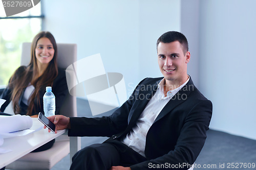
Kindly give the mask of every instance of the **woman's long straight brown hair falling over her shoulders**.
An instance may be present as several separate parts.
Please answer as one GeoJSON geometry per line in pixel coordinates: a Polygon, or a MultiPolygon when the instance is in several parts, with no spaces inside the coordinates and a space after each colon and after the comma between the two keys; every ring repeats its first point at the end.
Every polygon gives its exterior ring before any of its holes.
{"type": "Polygon", "coordinates": [[[15,114],[20,113],[20,107],[19,107],[19,99],[24,91],[24,89],[31,83],[35,89],[34,92],[31,94],[29,98],[29,106],[27,110],[27,115],[32,115],[32,113],[35,111],[34,103],[36,102],[39,107],[39,90],[41,88],[45,88],[46,86],[52,86],[53,80],[58,75],[58,67],[57,67],[57,44],[53,37],[53,35],[50,32],[40,32],[38,33],[31,44],[31,59],[29,65],[24,70],[16,70],[13,74],[13,76],[10,79],[9,87],[12,89],[12,95],[11,100],[13,102],[13,111],[15,114]],[[37,66],[37,60],[35,57],[35,48],[37,45],[37,41],[42,38],[46,37],[48,38],[54,48],[54,56],[53,59],[50,61],[47,69],[44,71],[44,74],[42,74],[39,78],[33,79],[33,77],[38,75],[38,66],[37,66]]]}

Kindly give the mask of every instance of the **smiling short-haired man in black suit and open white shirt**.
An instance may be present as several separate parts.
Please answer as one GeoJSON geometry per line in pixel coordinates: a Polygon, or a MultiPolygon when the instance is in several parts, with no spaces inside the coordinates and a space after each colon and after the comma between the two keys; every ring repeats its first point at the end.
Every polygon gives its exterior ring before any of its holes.
{"type": "Polygon", "coordinates": [[[56,130],[68,128],[69,136],[110,137],[78,151],[71,169],[188,169],[195,162],[212,104],[187,75],[190,53],[183,34],[164,33],[157,55],[164,77],[142,80],[111,116],[50,117],[56,130]]]}

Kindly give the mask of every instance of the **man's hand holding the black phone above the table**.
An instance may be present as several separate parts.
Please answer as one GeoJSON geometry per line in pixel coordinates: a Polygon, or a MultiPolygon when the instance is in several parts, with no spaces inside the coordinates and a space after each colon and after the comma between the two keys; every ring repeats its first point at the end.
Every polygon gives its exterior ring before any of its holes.
{"type": "MultiPolygon", "coordinates": [[[[57,130],[67,129],[70,128],[70,120],[69,117],[63,116],[63,115],[54,115],[47,117],[51,122],[54,123],[56,126],[55,133],[57,133],[57,130]]],[[[46,126],[44,127],[46,129],[46,126]]],[[[50,129],[48,129],[48,132],[51,132],[50,129]]]]}

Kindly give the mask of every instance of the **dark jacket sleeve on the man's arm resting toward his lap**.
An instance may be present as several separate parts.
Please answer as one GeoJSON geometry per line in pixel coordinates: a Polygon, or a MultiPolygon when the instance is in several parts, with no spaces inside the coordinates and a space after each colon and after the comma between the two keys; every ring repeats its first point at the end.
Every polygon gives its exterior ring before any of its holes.
{"type": "Polygon", "coordinates": [[[199,102],[187,114],[173,151],[158,158],[132,165],[131,169],[148,169],[154,166],[159,166],[159,169],[190,168],[203,148],[211,113],[210,101],[199,102]]]}

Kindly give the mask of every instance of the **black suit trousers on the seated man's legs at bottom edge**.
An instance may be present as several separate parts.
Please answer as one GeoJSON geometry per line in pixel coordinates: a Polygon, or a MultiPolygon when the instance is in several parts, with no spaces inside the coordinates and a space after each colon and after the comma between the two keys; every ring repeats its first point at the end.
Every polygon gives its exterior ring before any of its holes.
{"type": "Polygon", "coordinates": [[[129,167],[146,161],[133,149],[118,140],[92,144],[78,151],[72,158],[70,169],[109,170],[111,166],[129,167]]]}

